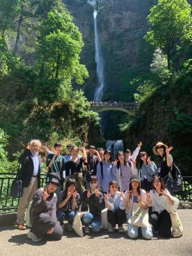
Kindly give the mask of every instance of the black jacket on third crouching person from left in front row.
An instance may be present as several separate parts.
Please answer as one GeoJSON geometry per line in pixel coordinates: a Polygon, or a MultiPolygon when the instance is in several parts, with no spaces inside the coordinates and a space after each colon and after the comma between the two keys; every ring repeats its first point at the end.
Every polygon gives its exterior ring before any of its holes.
{"type": "Polygon", "coordinates": [[[99,197],[92,194],[90,198],[87,197],[87,190],[81,194],[81,211],[88,210],[95,215],[101,215],[101,211],[104,209],[104,195],[102,192],[99,193],[99,197]]]}

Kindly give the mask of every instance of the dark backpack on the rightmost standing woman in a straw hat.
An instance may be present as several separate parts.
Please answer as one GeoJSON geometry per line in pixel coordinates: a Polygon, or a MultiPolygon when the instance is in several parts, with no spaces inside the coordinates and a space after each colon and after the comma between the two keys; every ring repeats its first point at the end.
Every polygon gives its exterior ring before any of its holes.
{"type": "Polygon", "coordinates": [[[173,178],[173,192],[180,192],[182,191],[182,174],[180,172],[180,169],[173,163],[171,167],[171,176],[173,178]]]}

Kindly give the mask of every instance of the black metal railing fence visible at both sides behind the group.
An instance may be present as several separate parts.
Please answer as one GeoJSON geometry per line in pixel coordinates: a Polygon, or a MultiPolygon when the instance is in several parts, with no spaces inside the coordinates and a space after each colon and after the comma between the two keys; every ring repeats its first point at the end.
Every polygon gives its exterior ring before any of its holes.
{"type": "MultiPolygon", "coordinates": [[[[0,173],[0,213],[17,211],[18,199],[10,196],[10,188],[16,174],[0,173]]],[[[46,174],[41,174],[41,187],[46,185],[46,174]]],[[[183,177],[182,191],[175,194],[180,201],[192,201],[192,176],[183,177]]]]}

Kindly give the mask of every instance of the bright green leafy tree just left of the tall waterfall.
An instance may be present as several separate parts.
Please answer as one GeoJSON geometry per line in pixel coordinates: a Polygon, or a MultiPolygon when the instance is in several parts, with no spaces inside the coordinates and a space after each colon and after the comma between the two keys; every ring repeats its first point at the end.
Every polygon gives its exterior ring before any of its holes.
{"type": "Polygon", "coordinates": [[[39,36],[41,76],[68,80],[75,78],[82,84],[88,77],[86,67],[79,63],[84,46],[81,33],[70,14],[51,11],[42,22],[39,36]]]}

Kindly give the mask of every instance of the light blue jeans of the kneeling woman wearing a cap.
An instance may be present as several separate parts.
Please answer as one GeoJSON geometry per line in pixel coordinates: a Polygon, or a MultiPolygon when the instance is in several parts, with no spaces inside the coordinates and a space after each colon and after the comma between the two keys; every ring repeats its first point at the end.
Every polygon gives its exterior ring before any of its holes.
{"type": "MultiPolygon", "coordinates": [[[[127,233],[128,233],[128,237],[134,239],[136,237],[138,237],[138,229],[139,227],[131,225],[130,223],[128,223],[127,226],[127,233]]],[[[153,232],[151,229],[151,226],[148,226],[146,228],[141,228],[142,230],[142,237],[144,239],[151,239],[151,237],[153,237],[153,232]]]]}

